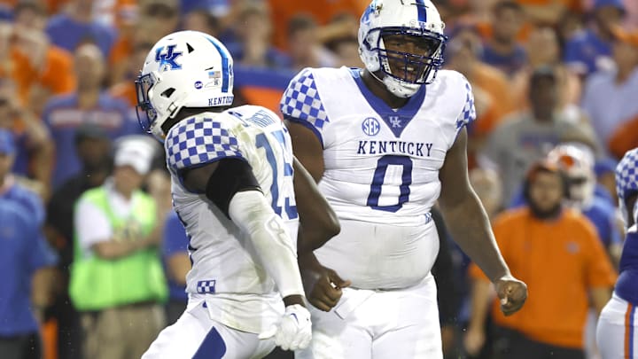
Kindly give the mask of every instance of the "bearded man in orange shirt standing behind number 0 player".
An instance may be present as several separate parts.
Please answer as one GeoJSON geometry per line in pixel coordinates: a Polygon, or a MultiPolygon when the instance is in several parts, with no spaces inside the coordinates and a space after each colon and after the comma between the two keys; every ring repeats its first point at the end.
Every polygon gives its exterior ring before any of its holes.
{"type": "MultiPolygon", "coordinates": [[[[494,349],[502,358],[582,359],[589,298],[600,313],[611,297],[615,273],[595,229],[563,207],[567,183],[546,160],[525,178],[528,207],[508,210],[494,222],[494,235],[513,274],[529,285],[530,297],[515,316],[502,316],[492,301],[494,349]]],[[[471,321],[465,346],[472,354],[485,340],[490,286],[472,264],[471,321]]]]}

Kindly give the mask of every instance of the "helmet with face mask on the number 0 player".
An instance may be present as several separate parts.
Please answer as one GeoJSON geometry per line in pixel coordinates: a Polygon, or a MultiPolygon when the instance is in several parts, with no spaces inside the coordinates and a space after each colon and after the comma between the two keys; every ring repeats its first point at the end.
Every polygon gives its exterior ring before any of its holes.
{"type": "Polygon", "coordinates": [[[409,98],[443,66],[444,27],[430,0],[373,0],[359,25],[359,55],[371,74],[384,74],[387,90],[409,98]],[[401,37],[418,45],[401,51],[401,37]],[[397,39],[396,46],[390,39],[397,39]]]}

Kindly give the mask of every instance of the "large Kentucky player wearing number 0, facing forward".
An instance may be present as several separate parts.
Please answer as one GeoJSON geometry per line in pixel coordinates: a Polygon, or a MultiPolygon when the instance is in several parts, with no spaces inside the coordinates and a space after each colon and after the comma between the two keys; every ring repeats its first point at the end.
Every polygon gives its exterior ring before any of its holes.
{"type": "Polygon", "coordinates": [[[341,225],[314,253],[300,248],[313,339],[298,358],[442,357],[430,273],[437,200],[503,312],[525,301],[468,180],[473,97],[463,75],[438,71],[443,27],[428,0],[372,1],[359,28],[365,67],[306,68],[284,92],[295,155],[341,225]]]}

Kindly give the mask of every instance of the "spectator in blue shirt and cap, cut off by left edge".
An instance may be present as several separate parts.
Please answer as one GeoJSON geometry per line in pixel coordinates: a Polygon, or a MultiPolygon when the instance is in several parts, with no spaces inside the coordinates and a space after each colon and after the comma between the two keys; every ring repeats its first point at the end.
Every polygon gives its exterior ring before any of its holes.
{"type": "MultiPolygon", "coordinates": [[[[0,130],[0,178],[15,156],[12,137],[0,130]]],[[[57,258],[42,235],[42,211],[24,197],[0,196],[0,354],[4,359],[39,359],[39,323],[50,304],[51,268],[57,258]]],[[[41,205],[42,206],[42,205],[41,205]]],[[[42,208],[41,208],[42,209],[42,208]]]]}

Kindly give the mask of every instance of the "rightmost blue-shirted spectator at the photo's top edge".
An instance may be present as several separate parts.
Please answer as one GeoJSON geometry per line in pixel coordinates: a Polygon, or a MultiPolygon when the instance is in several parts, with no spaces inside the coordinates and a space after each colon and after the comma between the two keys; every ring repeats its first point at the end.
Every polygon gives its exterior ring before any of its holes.
{"type": "Polygon", "coordinates": [[[564,45],[563,60],[583,77],[598,70],[609,70],[611,63],[611,28],[625,16],[623,0],[595,0],[591,10],[594,21],[564,45]]]}

